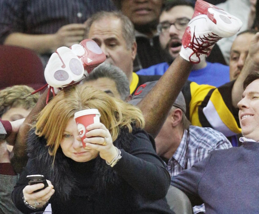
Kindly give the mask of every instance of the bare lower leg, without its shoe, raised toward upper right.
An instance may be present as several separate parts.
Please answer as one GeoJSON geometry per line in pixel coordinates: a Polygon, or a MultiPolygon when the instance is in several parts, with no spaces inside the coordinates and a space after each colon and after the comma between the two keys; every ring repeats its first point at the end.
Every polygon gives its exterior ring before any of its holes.
{"type": "Polygon", "coordinates": [[[176,57],[150,92],[137,104],[145,118],[145,131],[157,136],[172,104],[191,72],[192,64],[181,56],[176,57]]]}

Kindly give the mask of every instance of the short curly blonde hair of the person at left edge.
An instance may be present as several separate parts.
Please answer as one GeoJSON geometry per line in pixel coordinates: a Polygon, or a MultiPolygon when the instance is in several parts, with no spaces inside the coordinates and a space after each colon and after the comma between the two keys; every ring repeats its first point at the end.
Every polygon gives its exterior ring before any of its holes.
{"type": "Polygon", "coordinates": [[[39,94],[28,96],[33,91],[33,88],[26,85],[14,85],[0,90],[0,117],[10,108],[33,108],[39,99],[39,94]],[[28,97],[25,98],[26,96],[28,97]]]}

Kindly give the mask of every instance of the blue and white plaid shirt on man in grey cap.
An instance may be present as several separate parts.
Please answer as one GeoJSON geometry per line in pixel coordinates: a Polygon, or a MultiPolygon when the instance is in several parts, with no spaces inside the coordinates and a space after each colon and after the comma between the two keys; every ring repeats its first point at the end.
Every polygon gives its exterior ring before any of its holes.
{"type": "MultiPolygon", "coordinates": [[[[169,159],[167,169],[172,177],[184,169],[191,168],[212,150],[231,147],[231,143],[221,132],[212,128],[190,126],[189,130],[184,130],[180,145],[169,159]]],[[[194,213],[197,212],[205,212],[204,205],[195,206],[194,213]]]]}

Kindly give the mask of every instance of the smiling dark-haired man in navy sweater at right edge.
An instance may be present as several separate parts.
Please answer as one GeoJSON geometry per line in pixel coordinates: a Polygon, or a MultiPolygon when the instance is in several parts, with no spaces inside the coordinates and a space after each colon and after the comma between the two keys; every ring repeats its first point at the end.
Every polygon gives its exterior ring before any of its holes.
{"type": "Polygon", "coordinates": [[[206,213],[258,213],[259,199],[259,72],[244,81],[238,103],[242,146],[212,151],[191,169],[172,178],[171,184],[205,204],[206,213]]]}

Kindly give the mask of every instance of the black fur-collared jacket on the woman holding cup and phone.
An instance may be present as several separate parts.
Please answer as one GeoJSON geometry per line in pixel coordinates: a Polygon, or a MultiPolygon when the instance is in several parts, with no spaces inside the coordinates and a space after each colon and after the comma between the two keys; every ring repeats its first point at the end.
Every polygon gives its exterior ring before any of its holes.
{"type": "Polygon", "coordinates": [[[122,156],[113,168],[99,156],[84,163],[73,161],[61,149],[52,168],[46,140],[31,133],[29,161],[13,190],[14,204],[24,213],[33,211],[22,200],[25,177],[43,174],[55,189],[49,201],[54,213],[172,213],[164,198],[170,175],[155,153],[154,139],[143,130],[121,129],[113,144],[122,156]]]}

